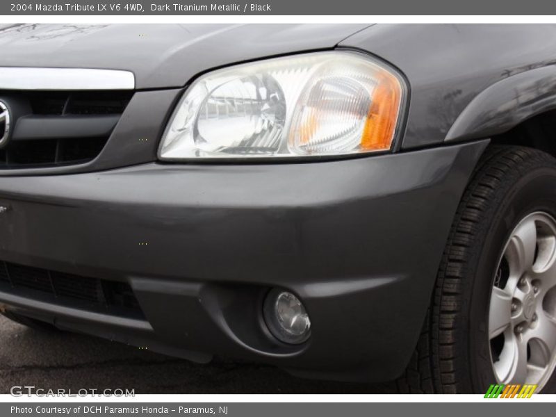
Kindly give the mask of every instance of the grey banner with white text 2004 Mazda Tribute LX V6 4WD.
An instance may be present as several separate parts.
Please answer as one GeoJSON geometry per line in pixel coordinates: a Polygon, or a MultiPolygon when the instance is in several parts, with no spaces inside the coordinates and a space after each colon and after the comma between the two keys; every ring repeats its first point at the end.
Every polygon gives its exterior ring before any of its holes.
{"type": "Polygon", "coordinates": [[[0,15],[556,15],[548,0],[2,0],[0,15]]]}

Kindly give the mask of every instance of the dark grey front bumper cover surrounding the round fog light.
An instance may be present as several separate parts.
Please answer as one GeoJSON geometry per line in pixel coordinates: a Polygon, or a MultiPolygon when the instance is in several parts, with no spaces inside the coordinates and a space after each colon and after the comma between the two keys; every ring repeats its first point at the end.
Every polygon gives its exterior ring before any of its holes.
{"type": "Polygon", "coordinates": [[[0,302],[65,329],[195,361],[225,354],[299,375],[378,381],[411,357],[450,224],[487,141],[346,161],[161,165],[0,177],[0,260],[127,281],[145,320],[0,302]],[[272,287],[311,338],[275,341],[272,287]]]}

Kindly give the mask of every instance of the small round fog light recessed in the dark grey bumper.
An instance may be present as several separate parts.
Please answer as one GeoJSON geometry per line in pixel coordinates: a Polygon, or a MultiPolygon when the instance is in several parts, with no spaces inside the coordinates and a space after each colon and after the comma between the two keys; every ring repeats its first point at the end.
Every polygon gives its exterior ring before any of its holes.
{"type": "Polygon", "coordinates": [[[284,343],[303,343],[311,334],[311,320],[302,302],[288,291],[270,291],[264,305],[265,322],[270,332],[284,343]]]}

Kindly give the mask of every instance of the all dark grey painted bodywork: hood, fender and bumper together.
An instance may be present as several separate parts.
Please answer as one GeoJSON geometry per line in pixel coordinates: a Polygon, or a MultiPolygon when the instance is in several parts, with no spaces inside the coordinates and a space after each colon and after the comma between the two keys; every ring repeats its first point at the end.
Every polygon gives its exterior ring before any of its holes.
{"type": "Polygon", "coordinates": [[[10,207],[0,214],[0,259],[129,281],[149,328],[5,293],[0,300],[63,328],[197,361],[220,353],[313,377],[396,377],[484,138],[554,108],[556,29],[365,26],[0,30],[0,65],[132,70],[142,89],[95,161],[0,172],[0,205],[10,207]],[[411,102],[394,154],[154,163],[167,117],[199,73],[334,47],[368,51],[407,78],[411,102]],[[281,345],[265,332],[261,300],[274,286],[306,303],[306,344],[281,345]]]}

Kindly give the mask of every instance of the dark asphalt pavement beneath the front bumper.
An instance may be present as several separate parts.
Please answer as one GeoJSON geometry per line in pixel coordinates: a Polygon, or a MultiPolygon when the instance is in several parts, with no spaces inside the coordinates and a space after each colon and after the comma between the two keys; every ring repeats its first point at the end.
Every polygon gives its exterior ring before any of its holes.
{"type": "Polygon", "coordinates": [[[393,384],[311,381],[256,363],[200,365],[101,338],[28,329],[0,316],[0,393],[134,389],[136,393],[393,393],[393,384]]]}

